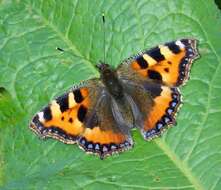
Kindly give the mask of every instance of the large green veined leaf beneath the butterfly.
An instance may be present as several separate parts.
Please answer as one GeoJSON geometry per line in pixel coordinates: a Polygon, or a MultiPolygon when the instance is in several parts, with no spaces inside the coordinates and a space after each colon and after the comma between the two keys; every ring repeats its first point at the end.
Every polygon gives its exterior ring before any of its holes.
{"type": "Polygon", "coordinates": [[[0,1],[2,189],[221,189],[221,16],[213,1],[0,1]],[[73,84],[159,43],[194,37],[201,58],[182,87],[178,125],[105,160],[42,141],[28,124],[73,84]],[[56,47],[69,53],[61,53],[56,47]]]}

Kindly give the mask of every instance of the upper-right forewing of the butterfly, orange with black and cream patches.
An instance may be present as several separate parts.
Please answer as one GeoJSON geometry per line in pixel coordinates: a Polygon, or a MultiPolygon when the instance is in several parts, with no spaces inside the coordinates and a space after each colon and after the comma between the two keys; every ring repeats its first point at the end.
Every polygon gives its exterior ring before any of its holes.
{"type": "Polygon", "coordinates": [[[129,62],[145,78],[179,86],[188,80],[192,61],[197,57],[196,40],[182,39],[144,51],[129,62]]]}

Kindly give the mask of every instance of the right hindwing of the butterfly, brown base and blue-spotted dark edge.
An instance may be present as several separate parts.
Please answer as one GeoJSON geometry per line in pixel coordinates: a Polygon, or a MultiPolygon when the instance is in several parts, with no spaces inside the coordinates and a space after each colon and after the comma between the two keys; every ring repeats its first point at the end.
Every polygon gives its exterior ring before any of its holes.
{"type": "Polygon", "coordinates": [[[153,80],[147,81],[123,82],[126,86],[125,91],[133,98],[138,108],[137,114],[134,114],[139,116],[136,127],[146,140],[150,140],[161,134],[166,126],[175,124],[181,95],[176,87],[165,86],[153,80]]]}

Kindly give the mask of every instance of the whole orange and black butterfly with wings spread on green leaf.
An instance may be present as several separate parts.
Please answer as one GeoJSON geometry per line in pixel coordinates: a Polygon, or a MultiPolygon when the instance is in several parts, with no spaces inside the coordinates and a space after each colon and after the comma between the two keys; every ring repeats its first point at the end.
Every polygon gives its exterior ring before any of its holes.
{"type": "Polygon", "coordinates": [[[30,122],[42,138],[78,144],[101,159],[133,147],[131,130],[145,140],[175,124],[179,87],[199,57],[197,40],[180,39],[140,52],[114,69],[100,62],[99,78],[84,81],[56,98],[30,122]]]}

